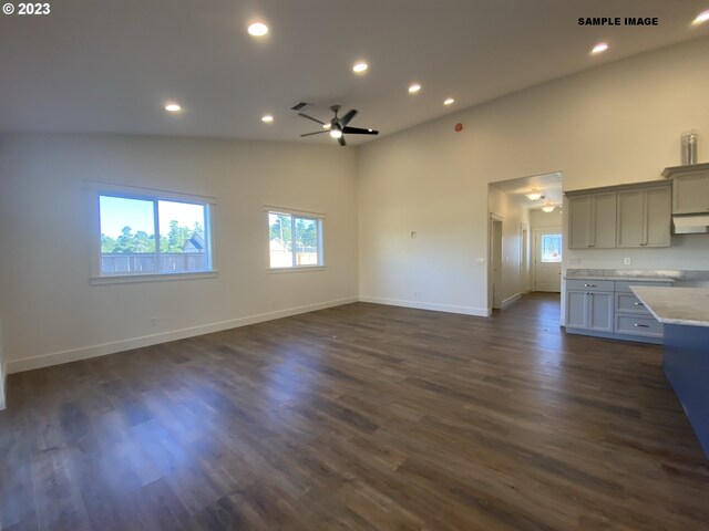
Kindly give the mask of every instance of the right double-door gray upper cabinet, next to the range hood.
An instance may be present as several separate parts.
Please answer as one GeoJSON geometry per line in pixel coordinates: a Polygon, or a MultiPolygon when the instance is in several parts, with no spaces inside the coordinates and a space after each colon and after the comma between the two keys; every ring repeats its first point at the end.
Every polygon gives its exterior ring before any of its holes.
{"type": "Polygon", "coordinates": [[[617,192],[616,247],[669,247],[671,189],[669,184],[617,192]]]}

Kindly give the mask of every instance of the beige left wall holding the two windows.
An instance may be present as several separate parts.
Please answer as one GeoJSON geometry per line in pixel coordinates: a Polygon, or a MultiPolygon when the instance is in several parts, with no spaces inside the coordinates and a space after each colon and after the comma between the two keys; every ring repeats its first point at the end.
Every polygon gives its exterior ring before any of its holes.
{"type": "Polygon", "coordinates": [[[9,372],[357,300],[353,157],[351,149],[301,144],[0,137],[9,372]],[[216,197],[218,277],[92,285],[97,227],[85,180],[216,197]],[[265,204],[327,216],[325,271],[267,272],[265,204]]]}

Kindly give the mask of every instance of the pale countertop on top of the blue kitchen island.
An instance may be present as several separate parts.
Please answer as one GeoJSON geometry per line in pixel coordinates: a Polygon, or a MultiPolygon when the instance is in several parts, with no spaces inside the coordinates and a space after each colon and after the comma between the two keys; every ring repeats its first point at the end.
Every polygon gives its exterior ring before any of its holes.
{"type": "Polygon", "coordinates": [[[660,323],[709,326],[709,288],[631,285],[630,290],[660,323]]]}

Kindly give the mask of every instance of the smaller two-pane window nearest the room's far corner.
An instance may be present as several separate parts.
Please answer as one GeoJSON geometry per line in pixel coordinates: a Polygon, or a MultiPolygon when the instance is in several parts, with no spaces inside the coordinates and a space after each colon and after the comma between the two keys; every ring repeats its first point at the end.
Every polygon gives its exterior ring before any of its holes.
{"type": "Polygon", "coordinates": [[[268,248],[271,269],[322,266],[322,218],[269,210],[268,248]]]}

